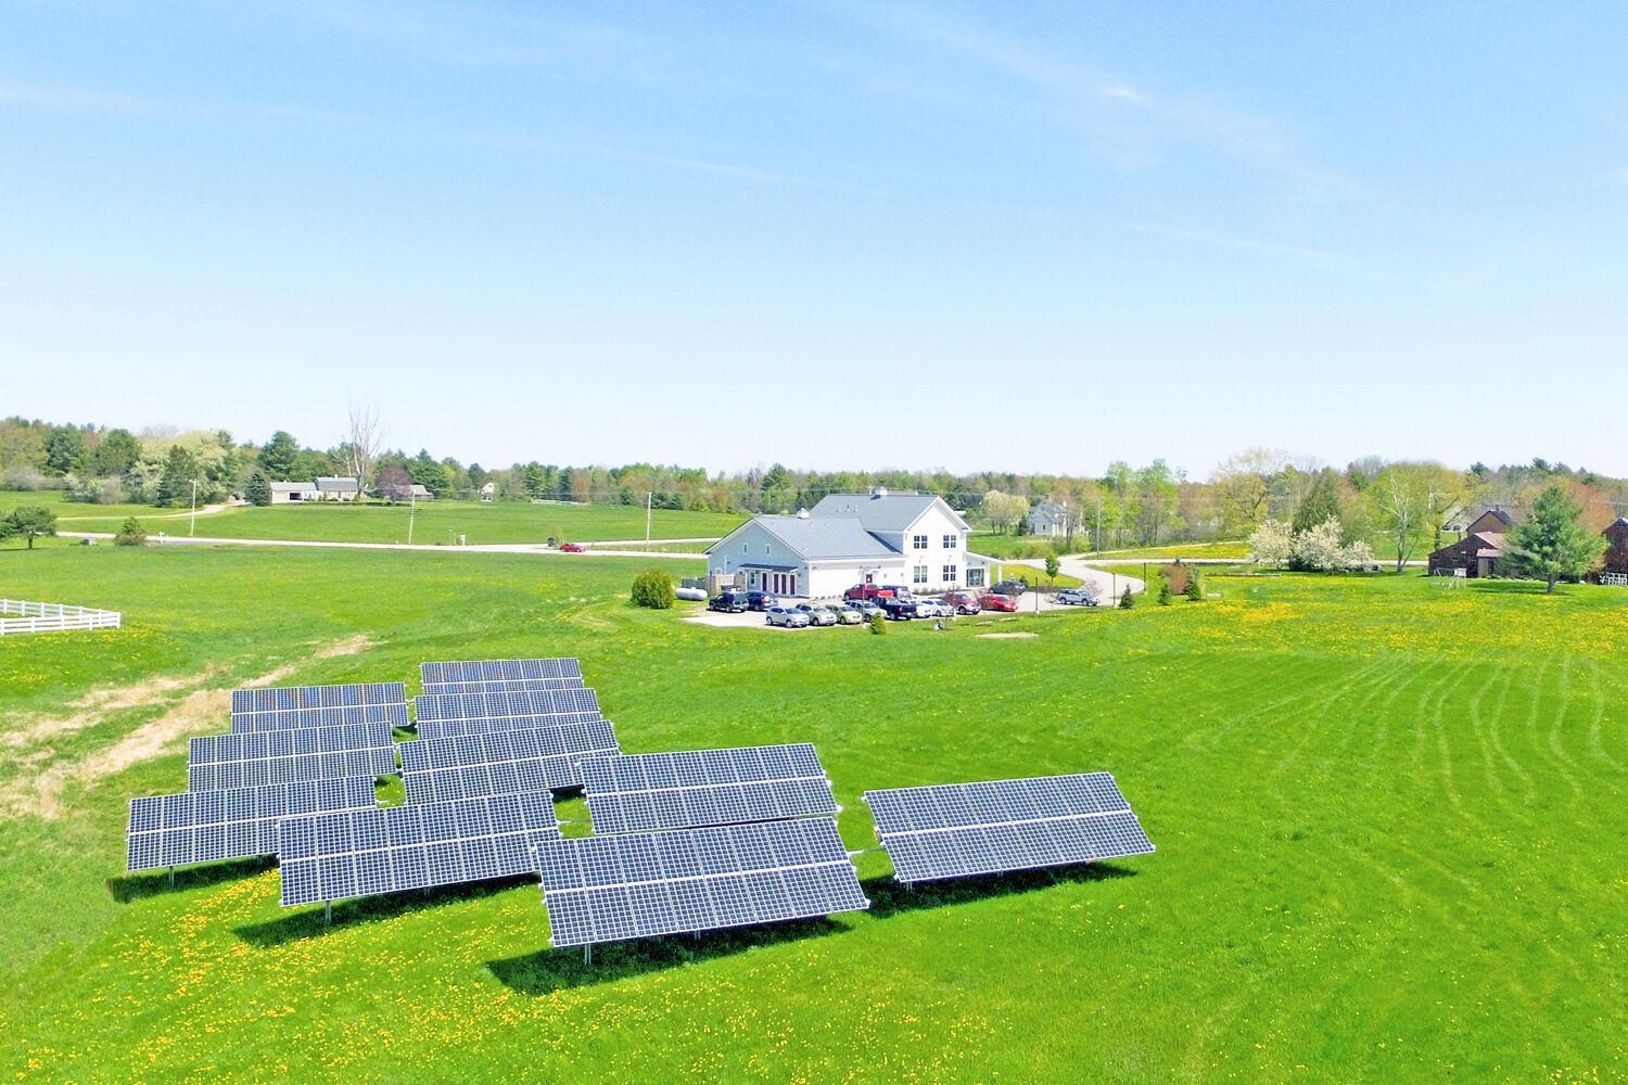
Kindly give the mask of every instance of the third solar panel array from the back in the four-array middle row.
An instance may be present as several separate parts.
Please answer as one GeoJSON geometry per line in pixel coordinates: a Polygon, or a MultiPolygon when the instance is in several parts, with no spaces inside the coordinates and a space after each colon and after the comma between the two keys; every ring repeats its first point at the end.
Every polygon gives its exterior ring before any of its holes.
{"type": "Polygon", "coordinates": [[[485,735],[418,739],[400,745],[409,802],[554,791],[581,786],[589,753],[615,753],[610,721],[521,727],[485,735]]]}

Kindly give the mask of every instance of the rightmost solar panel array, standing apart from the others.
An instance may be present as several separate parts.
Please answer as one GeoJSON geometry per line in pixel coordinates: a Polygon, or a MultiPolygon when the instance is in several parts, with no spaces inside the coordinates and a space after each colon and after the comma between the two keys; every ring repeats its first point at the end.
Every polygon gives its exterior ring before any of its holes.
{"type": "Polygon", "coordinates": [[[1154,851],[1109,773],[868,791],[864,802],[900,882],[1154,851]]]}

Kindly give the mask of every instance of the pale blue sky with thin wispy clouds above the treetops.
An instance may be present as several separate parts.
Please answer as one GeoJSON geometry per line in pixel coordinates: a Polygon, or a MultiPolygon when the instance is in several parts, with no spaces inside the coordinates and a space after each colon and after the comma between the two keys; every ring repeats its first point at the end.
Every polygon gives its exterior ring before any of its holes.
{"type": "Polygon", "coordinates": [[[0,413],[1628,473],[1628,7],[0,0],[0,413]]]}

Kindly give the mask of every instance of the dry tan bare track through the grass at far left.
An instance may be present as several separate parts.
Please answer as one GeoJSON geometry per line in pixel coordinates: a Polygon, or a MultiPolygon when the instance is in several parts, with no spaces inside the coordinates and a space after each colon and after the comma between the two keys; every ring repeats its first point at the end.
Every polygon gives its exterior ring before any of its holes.
{"type": "MultiPolygon", "coordinates": [[[[355,656],[373,644],[373,639],[358,633],[316,647],[311,659],[355,656]]],[[[285,664],[243,685],[274,685],[295,673],[303,662],[285,664]]],[[[0,786],[0,818],[62,817],[62,791],[68,781],[93,784],[98,779],[116,776],[138,761],[169,753],[179,739],[225,730],[226,719],[231,716],[231,691],[239,686],[199,686],[199,682],[210,682],[218,673],[220,669],[212,667],[190,680],[150,678],[130,686],[93,690],[70,706],[81,709],[78,714],[39,719],[26,730],[5,735],[0,745],[21,750],[15,755],[15,761],[23,769],[23,776],[0,786]],[[177,695],[179,699],[174,699],[177,695]],[[42,743],[63,734],[94,727],[122,709],[151,708],[171,701],[174,703],[169,711],[142,724],[106,750],[98,750],[75,761],[49,763],[55,752],[50,745],[42,743]],[[37,773],[31,771],[36,765],[42,766],[37,773]]]]}

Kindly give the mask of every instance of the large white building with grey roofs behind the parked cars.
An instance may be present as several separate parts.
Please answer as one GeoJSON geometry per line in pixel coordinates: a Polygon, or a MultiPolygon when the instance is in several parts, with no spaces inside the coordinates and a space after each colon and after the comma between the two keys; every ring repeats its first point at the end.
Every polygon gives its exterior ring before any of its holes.
{"type": "Polygon", "coordinates": [[[933,495],[830,495],[796,516],[754,516],[707,550],[707,571],[809,599],[832,599],[861,582],[917,594],[983,587],[988,569],[967,553],[967,530],[933,495]]]}

